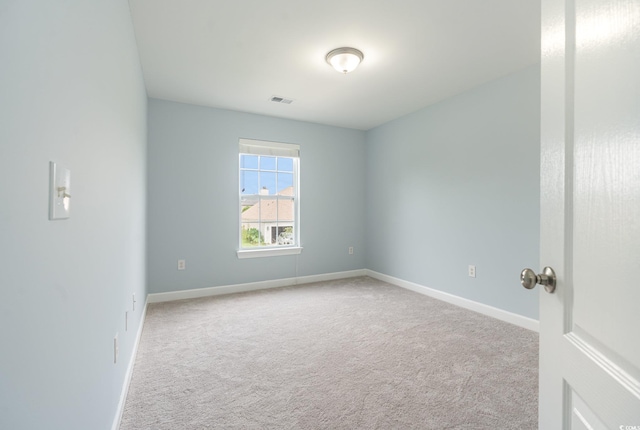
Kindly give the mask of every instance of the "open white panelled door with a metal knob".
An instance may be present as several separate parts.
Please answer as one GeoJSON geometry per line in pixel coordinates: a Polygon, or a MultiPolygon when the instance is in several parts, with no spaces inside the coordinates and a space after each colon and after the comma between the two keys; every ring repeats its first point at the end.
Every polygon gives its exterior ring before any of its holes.
{"type": "Polygon", "coordinates": [[[640,430],[640,1],[542,0],[541,430],[640,430]]]}

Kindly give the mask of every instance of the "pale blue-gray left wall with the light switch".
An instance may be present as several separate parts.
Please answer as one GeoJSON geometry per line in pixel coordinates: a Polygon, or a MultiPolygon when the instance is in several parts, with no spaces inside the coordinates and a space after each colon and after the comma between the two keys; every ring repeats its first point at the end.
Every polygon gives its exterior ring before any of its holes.
{"type": "Polygon", "coordinates": [[[107,429],[146,295],[147,101],[129,6],[0,10],[0,428],[107,429]],[[49,161],[71,169],[68,220],[48,220],[49,161]]]}

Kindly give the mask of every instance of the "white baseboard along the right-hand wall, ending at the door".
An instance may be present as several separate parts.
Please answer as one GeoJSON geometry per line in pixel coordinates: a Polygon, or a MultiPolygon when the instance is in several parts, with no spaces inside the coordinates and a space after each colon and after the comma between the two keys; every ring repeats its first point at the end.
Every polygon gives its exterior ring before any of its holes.
{"type": "Polygon", "coordinates": [[[434,290],[433,288],[425,287],[414,282],[409,282],[403,279],[394,278],[393,276],[385,275],[383,273],[374,272],[373,270],[365,269],[365,272],[367,276],[370,276],[372,278],[379,279],[398,287],[406,288],[407,290],[415,291],[416,293],[424,294],[426,296],[433,297],[434,299],[442,300],[443,302],[451,303],[453,305],[460,306],[461,308],[469,309],[474,312],[499,319],[501,321],[515,324],[528,330],[538,332],[540,329],[539,321],[534,320],[533,318],[514,314],[512,312],[494,308],[493,306],[485,305],[483,303],[474,302],[473,300],[465,299],[460,296],[455,296],[443,291],[434,290]]]}

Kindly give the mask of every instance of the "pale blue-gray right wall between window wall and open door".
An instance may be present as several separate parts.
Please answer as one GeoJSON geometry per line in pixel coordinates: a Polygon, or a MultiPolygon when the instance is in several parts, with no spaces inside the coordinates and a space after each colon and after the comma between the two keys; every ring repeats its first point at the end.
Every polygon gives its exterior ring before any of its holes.
{"type": "Polygon", "coordinates": [[[539,88],[528,68],[367,132],[367,268],[538,318],[539,88]]]}

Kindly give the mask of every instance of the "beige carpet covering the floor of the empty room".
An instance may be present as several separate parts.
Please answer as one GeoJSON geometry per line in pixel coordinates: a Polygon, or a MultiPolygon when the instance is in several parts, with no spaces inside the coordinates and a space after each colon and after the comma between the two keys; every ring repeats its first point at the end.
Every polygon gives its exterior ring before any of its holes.
{"type": "Polygon", "coordinates": [[[525,430],[537,404],[537,333],[362,277],[149,305],[120,428],[525,430]]]}

